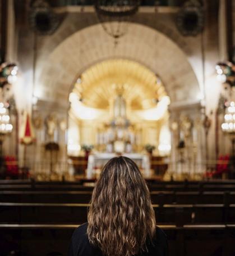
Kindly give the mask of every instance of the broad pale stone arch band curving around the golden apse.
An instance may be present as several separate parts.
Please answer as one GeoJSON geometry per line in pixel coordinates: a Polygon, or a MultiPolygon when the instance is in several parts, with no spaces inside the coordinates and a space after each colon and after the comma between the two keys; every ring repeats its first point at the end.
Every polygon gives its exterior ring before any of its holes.
{"type": "Polygon", "coordinates": [[[100,24],[72,34],[38,65],[34,95],[67,108],[79,74],[108,59],[133,60],[148,67],[162,79],[172,103],[200,100],[199,83],[185,53],[164,34],[140,24],[130,24],[116,47],[100,24]]]}

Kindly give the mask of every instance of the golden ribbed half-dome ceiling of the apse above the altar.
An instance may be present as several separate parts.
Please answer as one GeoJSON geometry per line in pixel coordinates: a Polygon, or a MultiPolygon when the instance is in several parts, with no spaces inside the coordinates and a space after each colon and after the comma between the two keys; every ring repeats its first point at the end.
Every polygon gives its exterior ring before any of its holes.
{"type": "Polygon", "coordinates": [[[89,107],[108,109],[122,87],[132,110],[150,109],[167,93],[160,78],[145,66],[130,60],[105,60],[91,66],[77,79],[73,92],[89,107]]]}

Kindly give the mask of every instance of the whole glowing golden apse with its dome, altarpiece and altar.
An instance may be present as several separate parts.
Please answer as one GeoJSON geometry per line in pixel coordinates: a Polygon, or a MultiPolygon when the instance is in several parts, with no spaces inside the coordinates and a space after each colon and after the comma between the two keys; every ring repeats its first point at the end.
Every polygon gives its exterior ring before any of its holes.
{"type": "Polygon", "coordinates": [[[92,66],[77,79],[70,102],[68,154],[94,146],[88,176],[119,154],[135,159],[149,175],[145,146],[169,154],[169,97],[160,78],[137,62],[115,59],[92,66]]]}

